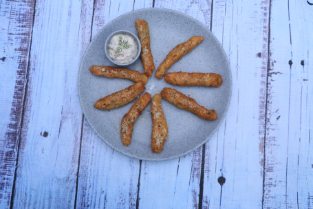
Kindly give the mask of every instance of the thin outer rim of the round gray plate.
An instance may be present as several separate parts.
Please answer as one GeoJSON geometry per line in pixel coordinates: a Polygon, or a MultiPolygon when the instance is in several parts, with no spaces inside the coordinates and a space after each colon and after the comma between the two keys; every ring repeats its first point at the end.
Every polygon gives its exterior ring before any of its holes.
{"type": "MultiPolygon", "coordinates": [[[[91,31],[92,32],[92,31],[91,31]]],[[[219,40],[217,39],[217,37],[215,37],[215,34],[213,34],[213,32],[211,32],[210,29],[208,29],[202,22],[198,21],[197,19],[195,19],[194,17],[191,17],[190,15],[188,14],[185,14],[184,12],[180,12],[180,11],[177,11],[177,10],[173,10],[173,9],[169,9],[169,8],[141,8],[141,9],[138,9],[138,10],[132,10],[130,12],[125,12],[124,14],[121,14],[120,16],[112,19],[111,21],[109,21],[108,23],[105,24],[105,26],[103,26],[98,32],[97,34],[91,39],[91,41],[89,42],[83,56],[81,57],[80,59],[80,66],[79,66],[79,70],[78,70],[78,97],[79,97],[79,102],[80,102],[80,108],[82,109],[82,112],[83,112],[83,116],[85,117],[85,119],[87,120],[87,122],[89,123],[89,126],[91,126],[92,130],[94,132],[96,132],[96,135],[98,135],[98,137],[104,141],[105,143],[107,143],[107,145],[109,145],[112,149],[120,152],[122,155],[126,155],[128,157],[133,157],[135,159],[140,159],[140,160],[145,160],[145,161],[166,161],[166,160],[170,160],[170,159],[175,159],[177,157],[182,157],[184,155],[187,155],[188,153],[191,153],[195,150],[197,150],[197,148],[201,147],[204,145],[204,143],[207,143],[209,139],[211,139],[211,137],[215,134],[215,132],[217,132],[217,130],[219,129],[219,127],[221,126],[222,122],[225,121],[226,119],[226,115],[227,115],[227,112],[229,110],[229,106],[230,106],[230,101],[231,101],[231,98],[232,98],[232,94],[233,94],[233,74],[231,72],[231,68],[230,68],[230,61],[228,59],[228,56],[222,46],[222,44],[219,42],[219,40]],[[94,128],[94,126],[90,123],[87,115],[85,115],[85,110],[83,108],[83,101],[82,101],[82,97],[81,96],[81,93],[80,93],[80,71],[82,70],[82,63],[83,63],[83,60],[85,59],[85,56],[87,54],[87,51],[89,50],[89,47],[91,46],[91,44],[94,42],[94,40],[96,39],[96,37],[98,37],[100,35],[100,33],[105,30],[106,26],[113,22],[113,21],[118,21],[118,19],[121,19],[122,17],[126,16],[127,14],[130,14],[130,13],[133,13],[133,12],[140,12],[140,11],[143,11],[143,10],[162,10],[162,11],[167,11],[167,12],[173,12],[173,13],[176,13],[176,14],[180,14],[184,17],[186,17],[187,19],[193,19],[194,21],[197,21],[197,23],[199,23],[200,25],[204,26],[204,28],[206,28],[206,30],[211,34],[211,37],[214,39],[215,43],[217,43],[217,46],[218,48],[222,51],[222,53],[224,54],[224,57],[226,58],[227,60],[227,69],[226,71],[229,72],[229,82],[230,82],[230,92],[229,92],[229,96],[228,96],[228,102],[226,103],[226,108],[225,108],[225,111],[222,113],[222,119],[219,121],[219,123],[217,123],[217,126],[213,129],[213,131],[208,134],[208,136],[206,136],[203,141],[201,143],[199,143],[197,146],[195,146],[194,148],[191,148],[191,150],[187,150],[186,152],[182,152],[178,155],[172,155],[170,157],[166,157],[166,158],[145,158],[145,157],[137,157],[137,156],[134,156],[134,155],[130,155],[129,153],[127,152],[124,152],[124,150],[120,149],[120,148],[116,148],[112,143],[110,143],[109,141],[105,141],[104,139],[102,139],[102,137],[100,137],[100,133],[98,132],[98,130],[96,130],[94,128]]],[[[158,153],[156,154],[158,155],[158,153]]]]}

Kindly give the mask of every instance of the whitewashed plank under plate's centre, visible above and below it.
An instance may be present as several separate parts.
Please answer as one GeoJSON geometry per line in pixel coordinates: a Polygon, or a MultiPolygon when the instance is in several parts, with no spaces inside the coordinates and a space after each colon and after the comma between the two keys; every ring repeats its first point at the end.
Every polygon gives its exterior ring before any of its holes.
{"type": "MultiPolygon", "coordinates": [[[[155,7],[178,10],[211,25],[211,2],[157,0],[155,7]]],[[[139,208],[198,208],[201,168],[202,148],[170,161],[142,161],[139,208]]]]}

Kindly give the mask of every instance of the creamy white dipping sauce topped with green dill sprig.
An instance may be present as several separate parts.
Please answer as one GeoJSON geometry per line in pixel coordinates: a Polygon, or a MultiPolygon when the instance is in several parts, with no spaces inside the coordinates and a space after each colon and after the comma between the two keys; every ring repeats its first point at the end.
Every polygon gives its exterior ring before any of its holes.
{"type": "Polygon", "coordinates": [[[109,43],[109,55],[117,63],[129,63],[135,59],[137,45],[133,37],[127,34],[116,34],[109,43]]]}

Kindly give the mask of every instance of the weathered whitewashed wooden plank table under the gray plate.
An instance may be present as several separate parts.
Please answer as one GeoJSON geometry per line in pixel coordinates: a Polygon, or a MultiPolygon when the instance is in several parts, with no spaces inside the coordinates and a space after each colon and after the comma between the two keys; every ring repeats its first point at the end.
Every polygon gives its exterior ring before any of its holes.
{"type": "Polygon", "coordinates": [[[313,208],[312,0],[0,3],[0,208],[313,208]],[[151,7],[202,22],[233,74],[208,143],[155,162],[99,139],[77,90],[98,30],[151,7]]]}

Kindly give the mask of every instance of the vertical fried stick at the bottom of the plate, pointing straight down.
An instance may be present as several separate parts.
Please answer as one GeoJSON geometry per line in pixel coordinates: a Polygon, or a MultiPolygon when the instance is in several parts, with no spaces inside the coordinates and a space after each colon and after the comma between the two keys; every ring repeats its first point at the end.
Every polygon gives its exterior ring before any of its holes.
{"type": "Polygon", "coordinates": [[[155,94],[151,103],[151,117],[152,117],[152,133],[151,133],[151,150],[153,152],[161,152],[163,150],[164,142],[167,138],[166,119],[161,107],[161,96],[155,94]]]}

